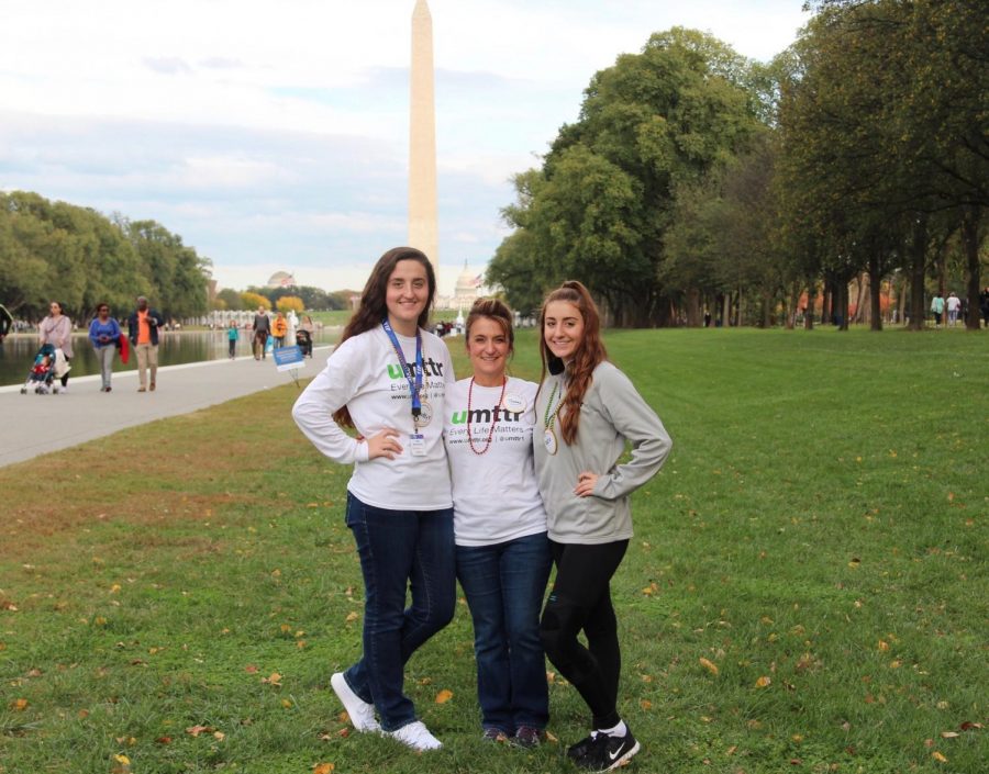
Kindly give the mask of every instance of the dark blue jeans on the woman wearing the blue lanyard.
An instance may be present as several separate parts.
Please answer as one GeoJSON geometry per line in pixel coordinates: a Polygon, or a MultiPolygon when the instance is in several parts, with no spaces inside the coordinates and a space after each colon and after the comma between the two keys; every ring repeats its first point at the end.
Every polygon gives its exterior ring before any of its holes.
{"type": "Polygon", "coordinates": [[[453,508],[376,508],[348,492],[347,527],[364,574],[364,655],[344,677],[374,703],[381,728],[395,731],[415,720],[412,700],[402,693],[405,662],[453,620],[453,508]],[[409,587],[412,604],[405,608],[409,587]]]}

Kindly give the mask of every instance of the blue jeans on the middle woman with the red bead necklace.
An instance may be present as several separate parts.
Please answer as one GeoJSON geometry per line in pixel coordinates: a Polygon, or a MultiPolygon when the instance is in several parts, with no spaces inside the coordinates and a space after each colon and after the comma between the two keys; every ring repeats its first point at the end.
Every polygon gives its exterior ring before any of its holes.
{"type": "Polygon", "coordinates": [[[552,565],[545,532],[457,546],[457,577],[474,619],[481,725],[514,733],[549,719],[540,609],[552,565]]]}

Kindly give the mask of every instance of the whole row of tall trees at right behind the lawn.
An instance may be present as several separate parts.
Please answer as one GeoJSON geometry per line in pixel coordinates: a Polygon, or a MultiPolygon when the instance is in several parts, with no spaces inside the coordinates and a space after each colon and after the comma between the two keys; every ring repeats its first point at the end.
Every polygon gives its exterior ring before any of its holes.
{"type": "MultiPolygon", "coordinates": [[[[921,327],[957,290],[978,327],[989,29],[974,0],[824,0],[768,64],[675,27],[597,72],[514,178],[487,281],[533,310],[585,281],[616,325],[846,327],[848,287],[921,327]],[[803,314],[808,311],[807,314],[803,314]]],[[[859,314],[862,313],[860,305],[859,314]]]]}

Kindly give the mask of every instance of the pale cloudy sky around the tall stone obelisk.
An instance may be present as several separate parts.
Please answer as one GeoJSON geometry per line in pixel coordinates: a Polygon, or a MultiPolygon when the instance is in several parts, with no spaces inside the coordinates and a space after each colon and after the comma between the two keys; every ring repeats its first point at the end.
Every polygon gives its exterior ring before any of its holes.
{"type": "MultiPolygon", "coordinates": [[[[0,0],[0,190],[155,220],[221,288],[359,290],[408,235],[414,0],[0,0]]],[[[766,61],[802,0],[431,0],[440,292],[510,233],[598,70],[686,26],[766,61]]],[[[2,256],[0,256],[2,260],[2,256]]]]}

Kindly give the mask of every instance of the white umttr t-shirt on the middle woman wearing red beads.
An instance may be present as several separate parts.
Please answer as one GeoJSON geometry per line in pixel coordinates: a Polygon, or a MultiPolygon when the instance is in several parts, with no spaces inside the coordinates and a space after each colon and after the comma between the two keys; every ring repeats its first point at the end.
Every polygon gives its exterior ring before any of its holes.
{"type": "Polygon", "coordinates": [[[510,378],[501,406],[500,386],[469,388],[469,379],[451,385],[444,414],[457,546],[492,546],[545,532],[546,511],[532,461],[537,385],[510,378]],[[486,446],[487,451],[478,455],[486,446]]]}

